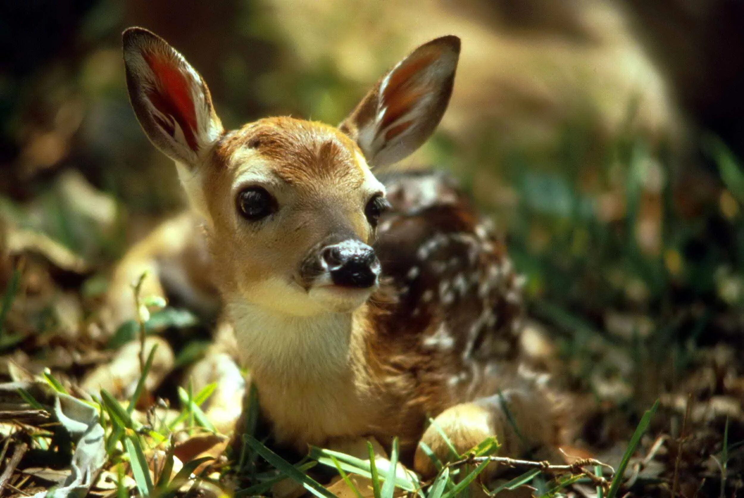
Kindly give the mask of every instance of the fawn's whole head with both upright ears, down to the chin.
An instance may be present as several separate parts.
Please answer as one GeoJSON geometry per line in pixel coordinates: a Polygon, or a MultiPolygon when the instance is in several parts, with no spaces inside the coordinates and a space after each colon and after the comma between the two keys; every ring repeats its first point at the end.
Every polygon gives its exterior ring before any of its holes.
{"type": "Polygon", "coordinates": [[[132,107],[176,161],[227,300],[293,316],[365,303],[378,285],[371,245],[387,206],[371,166],[400,161],[429,138],[459,51],[455,36],[421,45],[339,127],[272,117],[225,131],[205,81],[179,52],[148,30],[124,32],[132,107]]]}

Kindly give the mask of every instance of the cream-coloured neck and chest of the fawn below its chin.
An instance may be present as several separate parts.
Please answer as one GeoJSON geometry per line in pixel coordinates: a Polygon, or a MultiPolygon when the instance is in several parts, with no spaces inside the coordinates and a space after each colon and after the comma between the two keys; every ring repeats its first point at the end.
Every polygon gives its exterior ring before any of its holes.
{"type": "Polygon", "coordinates": [[[315,317],[246,305],[228,309],[277,442],[304,451],[307,444],[368,433],[379,423],[379,392],[366,360],[366,305],[315,317]]]}

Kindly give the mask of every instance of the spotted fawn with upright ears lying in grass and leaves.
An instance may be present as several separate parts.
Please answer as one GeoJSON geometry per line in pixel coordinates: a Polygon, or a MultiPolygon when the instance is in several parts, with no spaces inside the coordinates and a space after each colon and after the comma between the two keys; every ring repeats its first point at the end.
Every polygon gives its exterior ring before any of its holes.
{"type": "Polygon", "coordinates": [[[488,436],[510,456],[558,442],[551,392],[518,368],[519,279],[504,245],[443,175],[381,181],[371,169],[429,138],[459,53],[456,36],[421,45],[338,127],[271,117],[225,131],[179,52],[124,32],[132,107],[176,162],[280,444],[399,436],[404,460],[429,474],[419,441],[448,456],[429,416],[458,451],[488,436]]]}

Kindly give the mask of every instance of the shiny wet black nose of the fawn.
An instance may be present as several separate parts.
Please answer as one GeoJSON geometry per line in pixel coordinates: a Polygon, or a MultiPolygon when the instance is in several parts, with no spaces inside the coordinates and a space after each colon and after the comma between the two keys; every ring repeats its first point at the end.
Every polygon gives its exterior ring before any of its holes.
{"type": "Polygon", "coordinates": [[[322,256],[336,285],[368,288],[377,281],[379,261],[374,250],[363,242],[350,239],[328,245],[322,256]]]}

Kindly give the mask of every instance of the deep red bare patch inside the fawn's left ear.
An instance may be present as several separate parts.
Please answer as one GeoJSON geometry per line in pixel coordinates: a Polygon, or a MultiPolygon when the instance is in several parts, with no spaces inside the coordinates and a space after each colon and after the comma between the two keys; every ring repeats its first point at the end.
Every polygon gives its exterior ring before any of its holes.
{"type": "MultiPolygon", "coordinates": [[[[170,56],[158,54],[143,54],[147,65],[155,74],[156,88],[147,92],[147,98],[155,109],[161,113],[173,116],[179,123],[188,146],[196,151],[196,108],[193,103],[188,77],[176,66],[170,56]]],[[[175,133],[170,123],[158,119],[161,127],[171,136],[175,133]]]]}

